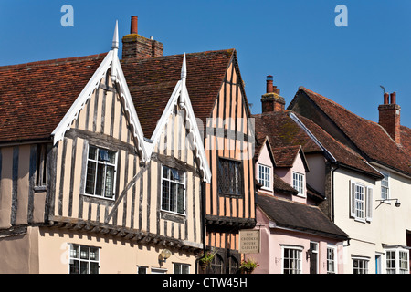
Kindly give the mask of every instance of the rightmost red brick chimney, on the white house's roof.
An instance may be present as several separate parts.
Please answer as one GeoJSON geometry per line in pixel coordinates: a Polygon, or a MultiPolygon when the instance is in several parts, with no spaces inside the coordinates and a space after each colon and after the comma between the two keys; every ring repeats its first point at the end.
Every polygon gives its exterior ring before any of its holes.
{"type": "Polygon", "coordinates": [[[396,92],[384,93],[384,104],[378,106],[378,123],[386,130],[393,140],[401,143],[400,112],[401,107],[396,104],[396,92]],[[390,100],[389,100],[390,99],[390,100]]]}

